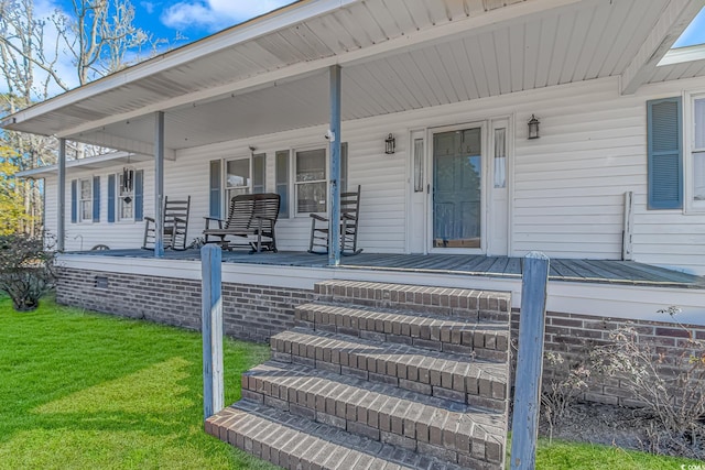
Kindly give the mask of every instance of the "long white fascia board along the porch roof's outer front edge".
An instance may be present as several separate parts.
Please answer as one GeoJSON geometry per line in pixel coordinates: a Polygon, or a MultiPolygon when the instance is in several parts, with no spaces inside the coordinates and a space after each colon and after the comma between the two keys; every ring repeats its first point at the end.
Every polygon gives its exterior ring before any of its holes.
{"type": "Polygon", "coordinates": [[[83,87],[66,91],[47,101],[34,105],[8,117],[0,127],[11,127],[47,112],[56,111],[74,102],[95,97],[119,86],[149,77],[159,72],[177,67],[195,57],[202,57],[234,45],[260,37],[264,34],[289,28],[301,21],[321,17],[361,0],[302,0],[283,7],[272,13],[258,17],[195,43],[158,55],[122,72],[111,74],[83,87]]]}

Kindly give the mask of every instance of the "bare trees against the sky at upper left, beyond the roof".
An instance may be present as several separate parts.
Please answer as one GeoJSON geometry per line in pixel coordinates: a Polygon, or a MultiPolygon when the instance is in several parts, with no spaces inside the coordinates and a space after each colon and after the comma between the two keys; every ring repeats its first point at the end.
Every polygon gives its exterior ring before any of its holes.
{"type": "MultiPolygon", "coordinates": [[[[48,18],[37,18],[34,0],[0,0],[0,74],[7,89],[0,95],[0,116],[120,70],[163,43],[134,25],[129,0],[73,0],[72,7],[68,12],[55,10],[48,18]],[[66,62],[75,69],[73,78],[59,67],[66,62]]],[[[52,138],[3,131],[0,144],[14,150],[20,170],[56,159],[57,143],[52,138]]],[[[69,155],[76,157],[105,152],[80,143],[68,145],[69,155]]],[[[39,185],[26,181],[21,190],[25,210],[41,220],[39,185]]]]}

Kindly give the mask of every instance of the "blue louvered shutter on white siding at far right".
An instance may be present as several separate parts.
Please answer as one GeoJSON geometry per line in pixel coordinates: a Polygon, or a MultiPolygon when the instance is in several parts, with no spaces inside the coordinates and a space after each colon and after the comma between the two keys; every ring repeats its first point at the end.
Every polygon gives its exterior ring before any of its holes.
{"type": "Polygon", "coordinates": [[[649,209],[683,207],[681,97],[647,101],[649,209]]]}

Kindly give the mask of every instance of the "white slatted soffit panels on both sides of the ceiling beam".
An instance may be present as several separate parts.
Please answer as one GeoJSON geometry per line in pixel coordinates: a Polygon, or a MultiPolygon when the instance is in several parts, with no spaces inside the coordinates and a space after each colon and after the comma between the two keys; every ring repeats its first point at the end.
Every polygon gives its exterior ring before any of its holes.
{"type": "MultiPolygon", "coordinates": [[[[530,0],[536,1],[536,0],[530,0]]],[[[258,74],[373,47],[423,29],[486,15],[511,1],[368,0],[234,45],[173,69],[127,83],[34,118],[31,128],[61,132],[150,109],[169,99],[258,74]],[[129,97],[129,99],[127,99],[129,97]]],[[[529,2],[522,2],[529,3],[529,2]]],[[[665,0],[584,0],[477,29],[454,30],[343,68],[343,119],[531,90],[623,73],[665,0]]],[[[520,6],[501,7],[506,9],[520,6]]],[[[327,66],[237,94],[166,109],[166,146],[291,130],[328,120],[327,66]]],[[[691,69],[702,74],[703,70],[691,69]]],[[[116,149],[151,152],[151,113],[73,135],[116,149]]]]}

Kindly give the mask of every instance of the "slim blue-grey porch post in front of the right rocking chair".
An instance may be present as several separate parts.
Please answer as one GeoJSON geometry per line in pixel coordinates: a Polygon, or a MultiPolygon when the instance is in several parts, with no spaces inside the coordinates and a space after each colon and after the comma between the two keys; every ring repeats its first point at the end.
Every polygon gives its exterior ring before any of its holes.
{"type": "Polygon", "coordinates": [[[330,217],[328,218],[328,265],[340,264],[340,66],[330,75],[330,217]]]}

